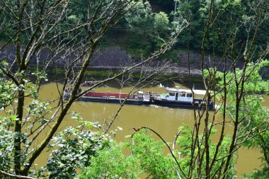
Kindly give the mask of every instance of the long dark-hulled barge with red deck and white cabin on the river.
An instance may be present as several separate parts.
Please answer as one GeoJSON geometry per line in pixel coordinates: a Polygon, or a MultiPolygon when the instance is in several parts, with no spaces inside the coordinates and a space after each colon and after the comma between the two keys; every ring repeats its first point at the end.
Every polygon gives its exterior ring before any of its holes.
{"type": "MultiPolygon", "coordinates": [[[[88,82],[81,84],[85,86],[88,82]]],[[[164,88],[164,86],[161,86],[164,88]]],[[[110,92],[95,92],[89,91],[81,96],[78,100],[90,101],[98,103],[125,103],[130,105],[159,105],[170,108],[197,108],[202,110],[205,108],[207,100],[203,98],[194,98],[194,96],[205,96],[206,91],[189,90],[181,88],[166,88],[166,93],[157,94],[150,92],[137,91],[137,93],[110,93],[110,92]]],[[[79,89],[79,93],[81,88],[79,89]]],[[[70,91],[66,93],[68,98],[70,91]]],[[[210,110],[214,110],[214,101],[210,100],[208,104],[210,110]]]]}

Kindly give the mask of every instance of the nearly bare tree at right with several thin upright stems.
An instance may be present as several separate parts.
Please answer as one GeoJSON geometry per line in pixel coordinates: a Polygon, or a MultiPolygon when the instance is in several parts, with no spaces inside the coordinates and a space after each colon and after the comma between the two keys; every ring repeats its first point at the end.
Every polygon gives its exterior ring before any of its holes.
{"type": "MultiPolygon", "coordinates": [[[[260,4],[256,4],[255,8],[251,8],[250,11],[253,11],[251,19],[253,21],[237,21],[239,17],[234,16],[234,13],[231,11],[226,14],[230,19],[226,21],[227,25],[219,26],[219,15],[222,14],[222,11],[214,11],[215,6],[218,4],[215,1],[210,1],[210,11],[208,12],[209,17],[207,21],[207,25],[205,25],[205,33],[202,37],[202,45],[200,48],[200,59],[201,59],[201,69],[202,74],[204,76],[205,88],[207,89],[207,95],[205,99],[207,103],[210,99],[214,99],[217,97],[219,93],[222,94],[221,98],[219,98],[222,112],[222,121],[217,121],[215,117],[215,113],[218,110],[215,110],[212,117],[210,117],[210,113],[207,108],[205,108],[204,112],[197,112],[195,115],[195,126],[193,127],[193,145],[192,145],[192,158],[190,161],[190,168],[188,170],[188,177],[191,177],[194,171],[198,171],[198,175],[195,177],[201,178],[202,173],[205,173],[205,178],[213,178],[219,173],[218,178],[226,178],[227,173],[230,169],[230,165],[232,162],[232,158],[236,155],[236,151],[246,142],[249,138],[249,134],[253,132],[255,129],[261,129],[261,131],[265,131],[267,128],[263,129],[263,127],[256,125],[248,128],[247,131],[241,132],[241,126],[244,121],[244,117],[240,115],[240,106],[244,103],[244,96],[246,95],[246,81],[251,78],[251,74],[256,69],[256,65],[251,65],[251,62],[262,62],[263,58],[268,54],[268,47],[260,52],[258,57],[254,55],[256,52],[255,49],[255,40],[257,37],[257,29],[262,25],[263,21],[267,19],[267,16],[264,16],[264,11],[267,11],[267,2],[259,1],[260,4]],[[263,4],[265,3],[265,4],[263,4]],[[265,8],[264,8],[265,7],[265,8]],[[240,22],[240,23],[239,23],[240,22]],[[214,28],[215,25],[218,29],[214,28]],[[238,40],[238,36],[241,35],[242,32],[239,33],[239,28],[244,27],[244,35],[247,37],[246,40],[238,40]],[[215,31],[216,30],[216,31],[215,31]],[[230,34],[227,35],[227,32],[230,34]],[[215,42],[216,39],[212,38],[211,42],[213,45],[212,52],[213,57],[210,61],[205,60],[205,42],[207,41],[207,37],[210,36],[210,33],[219,33],[219,37],[222,42],[222,58],[217,60],[215,57],[215,42]],[[237,51],[238,50],[238,51],[237,51]],[[237,51],[237,52],[236,52],[237,51]],[[239,62],[241,64],[241,73],[237,70],[236,67],[239,66],[239,62]],[[208,67],[212,67],[212,69],[208,69],[208,67]],[[248,68],[249,67],[249,68],[248,68]],[[205,70],[207,69],[207,70],[205,70]],[[222,86],[216,88],[217,83],[217,71],[222,71],[223,76],[220,78],[222,81],[222,86]],[[228,74],[231,73],[234,75],[234,79],[229,80],[228,74]],[[234,85],[233,88],[233,96],[234,96],[234,117],[229,119],[229,110],[227,107],[229,105],[229,86],[234,85]],[[216,91],[217,89],[217,91],[216,91]],[[214,90],[214,93],[210,93],[210,90],[214,90]],[[205,125],[205,128],[202,128],[202,139],[199,138],[199,131],[201,127],[201,122],[205,125]],[[219,132],[218,142],[216,149],[212,152],[210,151],[210,136],[211,131],[215,125],[221,125],[221,131],[219,132]],[[224,143],[225,129],[227,125],[231,125],[233,127],[233,132],[231,132],[231,141],[229,142],[227,155],[223,158],[218,158],[219,149],[224,143]],[[261,127],[261,128],[260,128],[261,127]],[[243,140],[243,141],[242,141],[243,140]],[[201,148],[202,142],[205,142],[205,148],[201,148]],[[195,150],[198,150],[198,154],[195,154],[195,150]],[[201,161],[202,156],[205,155],[205,161],[201,161]],[[210,156],[213,155],[213,158],[210,159],[210,156]],[[214,174],[212,174],[212,168],[217,163],[217,161],[223,160],[223,163],[214,174]],[[205,170],[203,171],[201,166],[199,166],[196,162],[205,163],[205,170]]],[[[209,38],[210,40],[210,38],[209,38]]],[[[217,100],[215,100],[217,101],[217,100]]],[[[263,122],[268,122],[267,119],[263,119],[263,122]]],[[[266,125],[265,125],[266,126],[266,125]]]]}

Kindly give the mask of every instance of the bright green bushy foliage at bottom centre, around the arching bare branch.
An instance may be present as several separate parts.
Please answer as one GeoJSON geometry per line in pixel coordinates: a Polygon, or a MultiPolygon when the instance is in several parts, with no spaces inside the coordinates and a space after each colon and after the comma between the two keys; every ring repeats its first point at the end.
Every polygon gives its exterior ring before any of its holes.
{"type": "MultiPolygon", "coordinates": [[[[184,125],[181,127],[181,137],[178,138],[175,153],[181,154],[178,158],[183,171],[188,173],[191,158],[192,130],[184,125]]],[[[200,139],[202,138],[202,134],[200,139]]],[[[219,147],[217,158],[226,156],[229,152],[229,137],[225,137],[219,147]]],[[[143,174],[147,178],[178,178],[179,171],[174,158],[170,154],[164,154],[164,143],[152,139],[147,131],[136,133],[130,142],[124,144],[113,144],[110,147],[98,151],[97,156],[91,158],[91,166],[84,168],[84,172],[78,178],[139,178],[143,174]],[[124,152],[123,152],[124,151],[124,152]]],[[[210,159],[212,160],[217,144],[210,142],[210,159]]],[[[201,144],[204,149],[205,144],[201,144]]],[[[195,155],[198,149],[195,149],[195,155]]],[[[227,178],[234,178],[236,170],[234,168],[233,157],[227,178]]],[[[217,171],[222,160],[216,161],[212,168],[212,173],[217,171]]],[[[202,168],[205,169],[205,156],[202,158],[202,168]]],[[[202,170],[203,171],[203,170],[202,170]]],[[[182,175],[182,173],[181,173],[182,175]]],[[[193,176],[195,173],[193,173],[193,176]]],[[[205,175],[202,175],[205,177],[205,175]]],[[[218,174],[216,175],[216,177],[218,174]]]]}

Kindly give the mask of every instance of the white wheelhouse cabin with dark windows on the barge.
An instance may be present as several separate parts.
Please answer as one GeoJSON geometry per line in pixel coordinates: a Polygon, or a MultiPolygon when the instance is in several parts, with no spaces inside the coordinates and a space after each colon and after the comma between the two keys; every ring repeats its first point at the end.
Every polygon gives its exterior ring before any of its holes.
{"type": "Polygon", "coordinates": [[[193,92],[188,89],[166,88],[167,93],[161,95],[164,100],[193,102],[193,92]]]}

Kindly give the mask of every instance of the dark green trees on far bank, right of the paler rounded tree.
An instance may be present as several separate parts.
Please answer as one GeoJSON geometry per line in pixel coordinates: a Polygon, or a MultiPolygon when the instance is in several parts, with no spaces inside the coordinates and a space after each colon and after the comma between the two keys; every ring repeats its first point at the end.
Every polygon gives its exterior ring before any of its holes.
{"type": "MultiPolygon", "coordinates": [[[[203,35],[209,21],[210,16],[210,1],[202,0],[176,0],[178,2],[177,11],[173,14],[175,16],[183,16],[188,20],[190,25],[183,31],[179,45],[187,47],[190,45],[192,50],[200,50],[203,35]]],[[[248,33],[253,37],[255,33],[256,20],[254,19],[255,11],[253,9],[257,6],[256,1],[237,1],[237,0],[218,0],[214,1],[213,18],[217,18],[214,23],[210,25],[210,31],[205,39],[205,50],[212,53],[222,54],[224,52],[223,43],[231,43],[233,40],[236,46],[233,48],[234,54],[241,53],[241,46],[246,43],[248,33]],[[234,34],[231,34],[233,32],[234,34]],[[234,35],[234,36],[233,36],[234,35]]],[[[268,2],[264,4],[261,9],[261,18],[266,14],[268,9],[268,2]]],[[[265,50],[268,42],[268,18],[265,15],[265,20],[258,27],[257,39],[255,41],[256,51],[253,52],[256,57],[261,50],[265,50]]]]}

